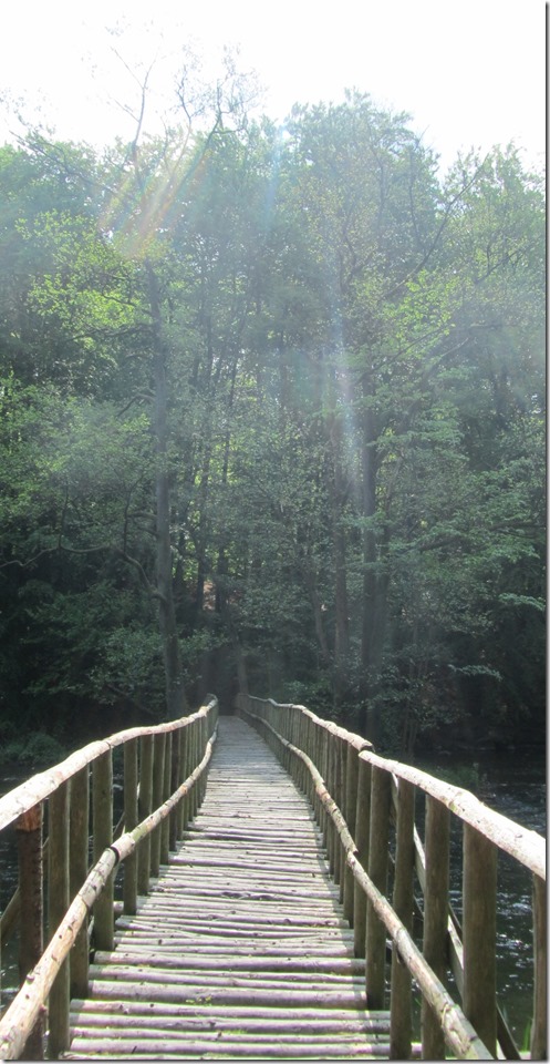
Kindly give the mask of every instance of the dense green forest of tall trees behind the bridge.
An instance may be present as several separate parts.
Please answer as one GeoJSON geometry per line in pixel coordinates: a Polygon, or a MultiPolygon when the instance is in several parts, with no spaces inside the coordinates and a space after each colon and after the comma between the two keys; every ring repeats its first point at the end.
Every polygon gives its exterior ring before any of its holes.
{"type": "Polygon", "coordinates": [[[542,741],[542,175],[442,176],[356,92],[177,100],[0,147],[0,745],[239,685],[402,756],[542,741]]]}

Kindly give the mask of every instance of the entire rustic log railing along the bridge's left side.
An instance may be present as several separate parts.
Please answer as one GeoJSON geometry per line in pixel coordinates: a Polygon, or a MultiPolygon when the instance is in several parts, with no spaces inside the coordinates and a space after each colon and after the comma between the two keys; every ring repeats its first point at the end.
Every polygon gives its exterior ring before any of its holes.
{"type": "MultiPolygon", "coordinates": [[[[39,881],[35,884],[25,882],[27,896],[37,899],[35,911],[25,912],[21,921],[21,940],[25,949],[27,961],[23,974],[27,978],[23,985],[0,1021],[0,1058],[14,1060],[23,1053],[25,1058],[42,1060],[42,1015],[46,1002],[50,1010],[49,1045],[50,1057],[55,1057],[69,1046],[69,1002],[70,986],[76,989],[87,983],[87,917],[94,913],[94,938],[101,948],[108,948],[113,933],[114,904],[113,882],[114,871],[118,863],[128,859],[132,869],[132,859],[136,851],[139,855],[151,838],[158,837],[163,847],[167,846],[169,828],[173,828],[173,839],[180,838],[193,811],[196,810],[204,797],[204,776],[209,764],[212,743],[216,734],[218,716],[217,699],[209,702],[197,713],[183,717],[176,722],[147,728],[133,728],[117,733],[110,738],[93,743],[84,749],[71,755],[60,765],[45,773],[38,774],[27,784],[15,788],[0,799],[0,823],[3,826],[15,822],[15,826],[29,821],[34,830],[34,821],[40,827],[40,837],[34,840],[42,850],[41,825],[42,805],[49,800],[50,807],[50,941],[42,952],[33,944],[27,949],[28,925],[42,925],[42,861],[34,862],[39,881]],[[172,744],[176,735],[178,741],[172,744]],[[158,749],[163,756],[157,757],[156,771],[147,756],[143,756],[156,737],[160,737],[158,749]],[[181,737],[185,743],[181,743],[181,737]],[[138,780],[136,761],[136,741],[144,744],[142,749],[142,771],[148,773],[153,767],[152,782],[154,782],[156,807],[147,809],[146,816],[138,823],[137,808],[143,799],[142,784],[138,780]],[[112,751],[124,745],[128,750],[125,756],[125,767],[128,776],[125,779],[126,790],[133,791],[125,796],[125,815],[129,821],[126,830],[118,838],[113,839],[113,806],[112,806],[112,751]],[[174,755],[174,756],[173,756],[174,755]],[[93,773],[93,810],[94,810],[94,859],[89,872],[87,861],[87,795],[90,788],[89,766],[93,773]],[[74,823],[80,831],[69,832],[69,823],[73,826],[70,815],[71,791],[79,804],[74,823]],[[181,806],[185,804],[185,811],[181,806]],[[82,806],[85,812],[82,815],[82,806]],[[59,809],[58,809],[59,807],[59,809]],[[59,816],[55,816],[58,809],[59,816]],[[35,812],[40,810],[40,816],[35,812]],[[61,815],[62,814],[62,815],[61,815]],[[132,822],[133,820],[133,822],[132,822]],[[31,823],[32,821],[32,823],[31,823]],[[166,829],[163,830],[163,825],[166,829]],[[84,836],[85,852],[82,847],[84,836]],[[52,856],[53,855],[53,856],[52,856]],[[79,872],[76,872],[79,870],[79,872]],[[40,909],[40,911],[38,911],[40,909]],[[107,945],[105,945],[107,943],[107,945]],[[38,953],[38,955],[37,955],[38,953]],[[74,964],[73,964],[74,961],[74,964]],[[38,1034],[37,1034],[38,1032],[38,1034]]],[[[35,831],[34,831],[35,833],[35,831]]],[[[24,846],[23,846],[24,852],[24,846]]],[[[146,884],[152,872],[151,861],[157,861],[157,852],[147,856],[146,884]]],[[[135,871],[135,868],[134,868],[135,871]]],[[[29,873],[30,874],[30,873],[29,873]]],[[[124,892],[125,911],[132,912],[137,897],[137,882],[131,872],[129,887],[124,892]]],[[[20,883],[21,886],[21,883],[20,883]]],[[[145,891],[146,892],[145,888],[145,891]]]]}

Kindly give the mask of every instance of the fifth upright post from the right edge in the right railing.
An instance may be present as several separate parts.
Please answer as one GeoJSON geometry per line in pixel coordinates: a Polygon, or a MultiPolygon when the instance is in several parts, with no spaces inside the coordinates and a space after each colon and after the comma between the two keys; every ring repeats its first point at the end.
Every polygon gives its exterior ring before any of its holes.
{"type": "MultiPolygon", "coordinates": [[[[369,876],[381,893],[387,887],[390,800],[392,777],[372,767],[369,876]]],[[[384,1007],[386,929],[372,903],[366,906],[366,996],[369,1009],[384,1007]]]]}

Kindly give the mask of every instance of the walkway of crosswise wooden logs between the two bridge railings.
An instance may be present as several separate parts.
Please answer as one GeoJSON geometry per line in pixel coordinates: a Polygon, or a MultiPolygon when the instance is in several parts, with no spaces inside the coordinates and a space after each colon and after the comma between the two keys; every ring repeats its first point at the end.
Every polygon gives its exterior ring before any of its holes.
{"type": "Polygon", "coordinates": [[[205,801],[73,1001],[66,1060],[388,1056],[309,804],[243,722],[205,801]]]}

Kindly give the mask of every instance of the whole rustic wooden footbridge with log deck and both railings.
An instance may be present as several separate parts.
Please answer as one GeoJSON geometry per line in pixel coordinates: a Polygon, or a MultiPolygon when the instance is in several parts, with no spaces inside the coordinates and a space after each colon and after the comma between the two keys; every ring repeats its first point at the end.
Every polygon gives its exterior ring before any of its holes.
{"type": "Polygon", "coordinates": [[[0,1058],[544,1058],[544,840],[301,706],[238,703],[93,743],[0,799],[21,972],[0,1058]],[[499,850],[533,883],[522,1053],[497,994],[499,850]]]}

